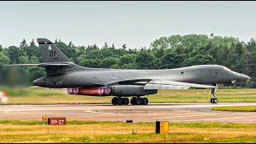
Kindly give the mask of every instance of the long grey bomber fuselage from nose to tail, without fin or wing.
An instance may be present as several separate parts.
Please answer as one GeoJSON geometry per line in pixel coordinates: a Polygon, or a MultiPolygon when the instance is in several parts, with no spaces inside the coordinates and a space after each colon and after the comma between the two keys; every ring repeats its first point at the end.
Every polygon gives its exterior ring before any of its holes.
{"type": "Polygon", "coordinates": [[[70,69],[66,74],[39,78],[34,81],[34,85],[51,88],[110,86],[150,79],[198,84],[226,84],[246,82],[250,78],[219,65],[188,66],[166,70],[102,69],[81,66],[78,70],[70,69]]]}

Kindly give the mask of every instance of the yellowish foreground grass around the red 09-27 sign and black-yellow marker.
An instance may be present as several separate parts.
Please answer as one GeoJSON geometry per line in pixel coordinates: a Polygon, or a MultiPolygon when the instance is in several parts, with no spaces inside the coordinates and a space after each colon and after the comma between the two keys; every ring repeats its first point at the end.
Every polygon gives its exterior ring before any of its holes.
{"type": "Polygon", "coordinates": [[[170,122],[169,134],[154,133],[154,122],[0,121],[0,142],[256,142],[256,124],[170,122]]]}

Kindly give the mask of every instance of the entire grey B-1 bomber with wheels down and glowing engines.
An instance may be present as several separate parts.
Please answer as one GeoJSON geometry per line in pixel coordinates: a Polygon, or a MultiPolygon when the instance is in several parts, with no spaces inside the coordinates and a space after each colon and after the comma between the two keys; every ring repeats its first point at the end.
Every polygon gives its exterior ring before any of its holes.
{"type": "Polygon", "coordinates": [[[8,66],[39,66],[46,77],[34,80],[35,86],[67,88],[68,94],[115,96],[113,105],[147,105],[142,96],[157,94],[158,90],[187,90],[190,87],[210,88],[211,103],[217,103],[218,84],[248,82],[251,78],[225,66],[199,65],[166,70],[126,70],[90,68],[74,64],[53,42],[38,38],[43,63],[8,66]]]}

